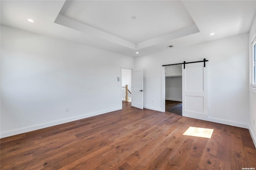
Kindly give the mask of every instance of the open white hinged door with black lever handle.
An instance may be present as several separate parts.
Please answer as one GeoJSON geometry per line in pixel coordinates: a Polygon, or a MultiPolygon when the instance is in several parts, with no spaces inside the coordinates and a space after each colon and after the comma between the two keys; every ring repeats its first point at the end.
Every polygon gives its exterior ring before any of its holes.
{"type": "Polygon", "coordinates": [[[143,71],[132,71],[132,106],[143,109],[143,71]]]}

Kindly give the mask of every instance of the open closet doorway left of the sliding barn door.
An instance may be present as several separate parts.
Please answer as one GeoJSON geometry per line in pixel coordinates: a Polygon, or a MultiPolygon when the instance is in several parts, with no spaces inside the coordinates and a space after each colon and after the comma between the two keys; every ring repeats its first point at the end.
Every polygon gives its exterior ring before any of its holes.
{"type": "Polygon", "coordinates": [[[182,65],[165,68],[165,111],[182,116],[182,65]]]}

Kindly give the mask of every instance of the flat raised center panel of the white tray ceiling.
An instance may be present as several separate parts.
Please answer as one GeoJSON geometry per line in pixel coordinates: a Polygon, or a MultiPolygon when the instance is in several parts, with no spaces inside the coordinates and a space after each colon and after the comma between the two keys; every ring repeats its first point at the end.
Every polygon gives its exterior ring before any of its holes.
{"type": "Polygon", "coordinates": [[[181,1],[66,1],[60,14],[132,43],[195,25],[181,1]]]}

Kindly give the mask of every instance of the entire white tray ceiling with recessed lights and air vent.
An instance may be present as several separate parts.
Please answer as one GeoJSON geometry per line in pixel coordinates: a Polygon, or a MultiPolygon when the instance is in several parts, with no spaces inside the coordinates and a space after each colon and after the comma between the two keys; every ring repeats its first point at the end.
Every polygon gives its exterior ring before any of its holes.
{"type": "Polygon", "coordinates": [[[132,57],[248,32],[256,13],[256,0],[0,3],[2,25],[132,57]]]}

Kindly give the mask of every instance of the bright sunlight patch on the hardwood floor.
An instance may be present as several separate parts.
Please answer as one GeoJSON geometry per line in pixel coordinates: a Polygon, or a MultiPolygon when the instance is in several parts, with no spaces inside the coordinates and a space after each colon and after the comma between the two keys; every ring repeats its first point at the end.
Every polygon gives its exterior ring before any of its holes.
{"type": "Polygon", "coordinates": [[[189,127],[183,135],[196,136],[202,138],[211,138],[213,129],[211,128],[198,128],[198,127],[189,127]]]}

